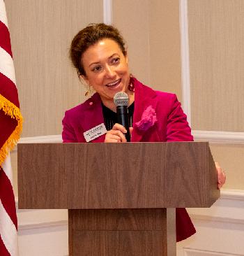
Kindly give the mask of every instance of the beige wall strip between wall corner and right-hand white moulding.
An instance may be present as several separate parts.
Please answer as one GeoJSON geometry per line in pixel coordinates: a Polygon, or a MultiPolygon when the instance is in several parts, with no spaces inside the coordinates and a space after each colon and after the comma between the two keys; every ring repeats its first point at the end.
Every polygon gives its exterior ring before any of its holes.
{"type": "Polygon", "coordinates": [[[148,1],[150,77],[155,90],[181,100],[181,38],[178,0],[148,1]]]}

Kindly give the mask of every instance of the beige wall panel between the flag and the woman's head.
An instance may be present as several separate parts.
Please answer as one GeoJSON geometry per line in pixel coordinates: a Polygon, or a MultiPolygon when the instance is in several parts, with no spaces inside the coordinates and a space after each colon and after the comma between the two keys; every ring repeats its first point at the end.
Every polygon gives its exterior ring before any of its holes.
{"type": "Polygon", "coordinates": [[[102,0],[8,0],[6,10],[22,136],[60,134],[64,111],[84,100],[68,59],[69,45],[86,24],[102,22],[102,0]]]}

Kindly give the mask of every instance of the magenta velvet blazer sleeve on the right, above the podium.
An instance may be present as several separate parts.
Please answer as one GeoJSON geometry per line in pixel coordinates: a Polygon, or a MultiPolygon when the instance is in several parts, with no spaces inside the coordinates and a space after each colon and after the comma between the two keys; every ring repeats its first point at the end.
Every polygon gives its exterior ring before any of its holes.
{"type": "Polygon", "coordinates": [[[173,94],[167,118],[166,141],[193,141],[187,117],[181,108],[176,94],[173,94]]]}

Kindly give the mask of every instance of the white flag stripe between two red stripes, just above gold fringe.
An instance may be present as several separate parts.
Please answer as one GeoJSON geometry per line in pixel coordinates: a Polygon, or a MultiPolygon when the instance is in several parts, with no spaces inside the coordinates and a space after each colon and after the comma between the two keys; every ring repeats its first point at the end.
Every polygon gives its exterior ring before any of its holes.
{"type": "Polygon", "coordinates": [[[0,47],[0,73],[9,78],[14,84],[15,81],[15,69],[13,66],[13,59],[11,55],[0,47]],[[3,65],[4,63],[4,65],[3,65]]]}

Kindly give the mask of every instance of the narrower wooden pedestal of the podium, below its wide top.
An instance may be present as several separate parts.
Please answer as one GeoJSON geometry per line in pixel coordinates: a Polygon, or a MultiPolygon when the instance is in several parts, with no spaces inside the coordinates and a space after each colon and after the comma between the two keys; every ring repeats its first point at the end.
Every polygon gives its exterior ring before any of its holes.
{"type": "Polygon", "coordinates": [[[170,225],[166,209],[69,210],[68,215],[69,255],[176,255],[175,211],[168,213],[170,225]]]}

